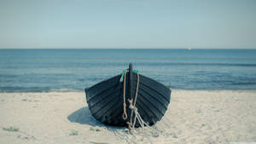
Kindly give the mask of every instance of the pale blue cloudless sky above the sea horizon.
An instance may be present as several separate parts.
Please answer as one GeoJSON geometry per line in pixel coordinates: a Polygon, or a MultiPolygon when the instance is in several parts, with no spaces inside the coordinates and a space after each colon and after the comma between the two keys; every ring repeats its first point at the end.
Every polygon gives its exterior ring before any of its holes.
{"type": "Polygon", "coordinates": [[[256,49],[256,0],[0,0],[0,48],[256,49]]]}

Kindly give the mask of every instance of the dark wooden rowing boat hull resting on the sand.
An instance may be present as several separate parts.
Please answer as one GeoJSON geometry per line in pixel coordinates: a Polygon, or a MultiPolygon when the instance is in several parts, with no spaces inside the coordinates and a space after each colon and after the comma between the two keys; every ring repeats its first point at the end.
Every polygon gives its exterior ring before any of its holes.
{"type": "MultiPolygon", "coordinates": [[[[122,74],[102,81],[85,89],[86,101],[91,114],[102,124],[125,126],[131,116],[130,103],[137,92],[137,111],[148,125],[156,124],[165,114],[171,100],[171,90],[165,85],[139,74],[137,90],[137,73],[132,65],[126,72],[125,102],[128,118],[123,119],[124,82],[120,82],[122,74]]],[[[138,127],[139,124],[136,124],[138,127]]]]}

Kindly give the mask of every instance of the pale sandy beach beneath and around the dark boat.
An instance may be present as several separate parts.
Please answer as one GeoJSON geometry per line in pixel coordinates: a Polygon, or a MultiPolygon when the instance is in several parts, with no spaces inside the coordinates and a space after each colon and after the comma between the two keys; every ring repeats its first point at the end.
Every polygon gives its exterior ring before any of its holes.
{"type": "Polygon", "coordinates": [[[0,93],[1,144],[230,143],[256,141],[256,91],[172,90],[155,127],[143,136],[100,124],[83,92],[0,93]]]}

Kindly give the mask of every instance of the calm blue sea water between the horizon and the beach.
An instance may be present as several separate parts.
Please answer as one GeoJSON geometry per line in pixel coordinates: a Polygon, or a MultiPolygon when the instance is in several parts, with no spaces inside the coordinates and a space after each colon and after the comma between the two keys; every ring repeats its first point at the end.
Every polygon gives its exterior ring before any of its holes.
{"type": "Polygon", "coordinates": [[[0,49],[0,91],[84,90],[130,62],[172,89],[256,89],[255,49],[0,49]]]}

